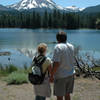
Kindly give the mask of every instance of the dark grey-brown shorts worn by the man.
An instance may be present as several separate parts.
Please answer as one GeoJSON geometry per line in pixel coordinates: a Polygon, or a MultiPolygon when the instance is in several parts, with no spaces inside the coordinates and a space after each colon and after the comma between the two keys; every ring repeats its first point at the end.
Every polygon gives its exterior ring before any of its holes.
{"type": "Polygon", "coordinates": [[[74,75],[66,78],[56,79],[54,81],[54,95],[65,96],[67,93],[72,93],[74,87],[74,75]]]}

